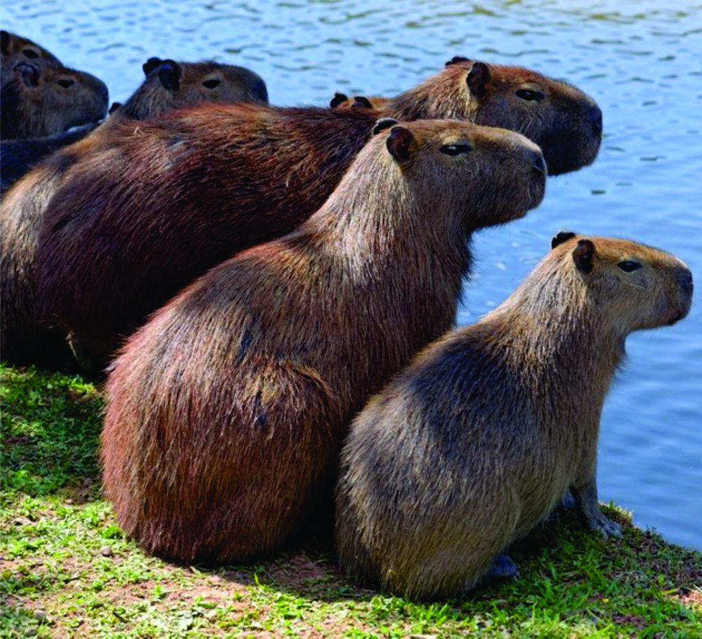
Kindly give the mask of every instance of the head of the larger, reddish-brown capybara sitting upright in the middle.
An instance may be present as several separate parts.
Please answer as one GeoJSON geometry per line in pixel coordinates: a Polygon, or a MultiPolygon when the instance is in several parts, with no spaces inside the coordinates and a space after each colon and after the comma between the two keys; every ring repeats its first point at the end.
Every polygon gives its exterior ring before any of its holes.
{"type": "Polygon", "coordinates": [[[543,199],[546,168],[541,149],[523,135],[458,120],[376,124],[378,144],[392,156],[388,168],[413,201],[458,211],[470,230],[522,217],[543,199]],[[465,184],[465,188],[461,188],[465,184]],[[470,185],[470,186],[469,186],[470,185]]]}

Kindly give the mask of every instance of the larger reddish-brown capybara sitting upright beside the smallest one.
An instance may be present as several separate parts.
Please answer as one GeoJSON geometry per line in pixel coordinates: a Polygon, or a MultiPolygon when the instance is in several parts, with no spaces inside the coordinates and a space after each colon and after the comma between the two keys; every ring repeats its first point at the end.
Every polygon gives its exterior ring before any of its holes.
{"type": "Polygon", "coordinates": [[[269,553],[325,489],[331,502],[352,415],[453,323],[472,231],[543,197],[543,156],[522,135],[383,127],[298,230],[208,271],[114,363],[105,494],[150,553],[269,553]]]}

